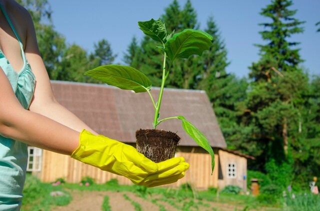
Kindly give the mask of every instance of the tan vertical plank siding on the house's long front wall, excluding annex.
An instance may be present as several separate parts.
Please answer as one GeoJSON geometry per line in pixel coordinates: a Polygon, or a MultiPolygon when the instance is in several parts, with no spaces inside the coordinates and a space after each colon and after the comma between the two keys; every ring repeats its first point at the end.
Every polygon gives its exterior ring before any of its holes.
{"type": "MultiPolygon", "coordinates": [[[[185,183],[190,183],[201,190],[217,187],[218,169],[214,168],[211,175],[211,157],[206,151],[199,147],[179,147],[176,157],[181,156],[190,164],[189,170],[186,171],[184,178],[165,187],[179,187],[185,183]]],[[[218,155],[215,154],[214,158],[217,162],[218,155]]],[[[42,182],[50,183],[58,178],[63,178],[68,183],[79,183],[83,177],[88,176],[93,178],[97,184],[104,184],[111,179],[116,179],[120,185],[132,185],[131,181],[125,177],[104,172],[66,155],[43,150],[42,159],[42,173],[40,174],[42,182]]]]}

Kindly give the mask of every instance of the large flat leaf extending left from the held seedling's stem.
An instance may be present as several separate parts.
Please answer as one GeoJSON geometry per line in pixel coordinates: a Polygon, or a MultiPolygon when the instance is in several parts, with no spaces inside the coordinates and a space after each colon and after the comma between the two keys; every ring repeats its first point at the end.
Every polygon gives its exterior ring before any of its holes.
{"type": "Polygon", "coordinates": [[[84,75],[120,89],[133,90],[135,93],[146,92],[151,88],[151,81],[143,73],[124,65],[103,65],[87,71],[84,75]]]}

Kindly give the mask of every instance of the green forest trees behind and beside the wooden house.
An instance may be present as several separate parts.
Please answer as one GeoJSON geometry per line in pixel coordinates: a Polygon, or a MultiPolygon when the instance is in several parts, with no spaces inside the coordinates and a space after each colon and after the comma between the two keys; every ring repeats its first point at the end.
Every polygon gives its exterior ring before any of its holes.
{"type": "MultiPolygon", "coordinates": [[[[114,62],[117,55],[110,43],[93,43],[93,52],[70,45],[55,30],[47,0],[17,2],[33,18],[50,79],[98,83],[83,73],[114,62]]],[[[278,186],[320,176],[320,77],[310,77],[300,67],[299,43],[292,40],[303,32],[303,21],[294,17],[292,5],[292,0],[272,0],[261,9],[269,21],[260,24],[265,42],[256,44],[260,58],[249,67],[249,81],[226,72],[230,61],[212,16],[204,26],[213,37],[210,49],[201,57],[175,61],[166,81],[166,87],[205,90],[228,148],[256,157],[248,160],[249,169],[266,173],[278,186]]],[[[190,0],[183,6],[172,0],[160,18],[169,32],[200,28],[190,0]]],[[[132,37],[122,61],[147,75],[152,86],[160,86],[160,57],[149,37],[132,37]]]]}

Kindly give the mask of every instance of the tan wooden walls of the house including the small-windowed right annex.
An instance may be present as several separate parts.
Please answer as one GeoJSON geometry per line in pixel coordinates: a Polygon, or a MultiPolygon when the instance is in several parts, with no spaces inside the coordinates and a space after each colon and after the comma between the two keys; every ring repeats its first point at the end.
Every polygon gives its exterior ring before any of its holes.
{"type": "MultiPolygon", "coordinates": [[[[95,183],[103,184],[110,179],[117,179],[120,185],[132,185],[131,181],[125,177],[101,171],[98,168],[83,164],[69,156],[43,150],[42,171],[38,177],[42,182],[54,182],[57,178],[64,178],[68,183],[79,183],[85,176],[91,177],[95,183]]],[[[222,188],[225,185],[238,185],[245,189],[243,175],[246,175],[246,159],[222,150],[214,150],[215,168],[211,175],[211,157],[200,147],[178,147],[176,157],[184,157],[190,164],[185,177],[178,182],[167,185],[166,187],[179,187],[182,184],[190,183],[199,190],[209,187],[222,188]],[[218,180],[218,171],[226,172],[228,162],[237,163],[237,179],[218,180]],[[219,168],[220,164],[220,168],[219,168]]]]}

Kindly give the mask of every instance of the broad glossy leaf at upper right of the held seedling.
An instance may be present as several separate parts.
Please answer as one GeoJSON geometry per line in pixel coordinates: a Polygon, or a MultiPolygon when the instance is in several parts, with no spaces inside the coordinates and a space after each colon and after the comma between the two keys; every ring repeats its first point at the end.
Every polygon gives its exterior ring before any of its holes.
{"type": "Polygon", "coordinates": [[[188,58],[190,55],[201,55],[212,45],[212,36],[195,29],[184,29],[168,39],[164,51],[169,59],[188,58]]]}

